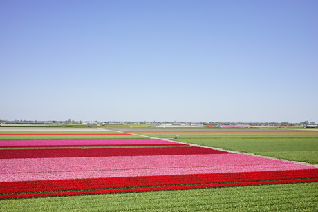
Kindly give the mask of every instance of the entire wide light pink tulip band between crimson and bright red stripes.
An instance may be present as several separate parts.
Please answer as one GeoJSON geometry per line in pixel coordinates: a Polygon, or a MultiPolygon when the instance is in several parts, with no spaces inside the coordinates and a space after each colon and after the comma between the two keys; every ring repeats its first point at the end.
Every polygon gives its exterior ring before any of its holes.
{"type": "Polygon", "coordinates": [[[314,168],[243,154],[2,159],[0,164],[1,182],[314,168]]]}

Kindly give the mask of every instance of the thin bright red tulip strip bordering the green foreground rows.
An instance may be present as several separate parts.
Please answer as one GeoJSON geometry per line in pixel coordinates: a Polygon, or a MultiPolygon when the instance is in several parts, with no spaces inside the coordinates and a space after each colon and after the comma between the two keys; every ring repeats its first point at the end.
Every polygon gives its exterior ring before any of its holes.
{"type": "Polygon", "coordinates": [[[202,189],[202,188],[212,188],[212,187],[287,184],[287,183],[299,183],[299,182],[318,182],[318,178],[299,179],[299,180],[261,181],[261,182],[232,182],[232,183],[226,183],[226,184],[197,184],[197,185],[185,185],[185,186],[143,187],[143,188],[132,188],[132,189],[63,191],[63,192],[54,192],[54,193],[21,193],[21,194],[0,195],[0,198],[8,199],[8,198],[27,198],[27,197],[50,197],[50,196],[52,197],[52,196],[62,196],[62,195],[88,195],[88,194],[99,194],[99,193],[124,193],[124,192],[138,192],[138,191],[165,191],[165,190],[176,190],[176,189],[202,189]]]}

